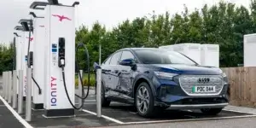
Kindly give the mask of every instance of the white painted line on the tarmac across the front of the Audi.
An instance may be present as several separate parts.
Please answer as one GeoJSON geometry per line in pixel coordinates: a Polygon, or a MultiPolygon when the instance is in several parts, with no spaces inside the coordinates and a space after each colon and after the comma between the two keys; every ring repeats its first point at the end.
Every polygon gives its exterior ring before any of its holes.
{"type": "Polygon", "coordinates": [[[202,119],[174,119],[174,120],[159,120],[159,121],[126,122],[125,125],[181,122],[181,121],[199,121],[199,120],[210,120],[210,119],[238,119],[238,118],[249,118],[249,117],[256,117],[256,115],[243,115],[243,116],[230,116],[230,117],[217,117],[217,118],[202,118],[202,119]]]}

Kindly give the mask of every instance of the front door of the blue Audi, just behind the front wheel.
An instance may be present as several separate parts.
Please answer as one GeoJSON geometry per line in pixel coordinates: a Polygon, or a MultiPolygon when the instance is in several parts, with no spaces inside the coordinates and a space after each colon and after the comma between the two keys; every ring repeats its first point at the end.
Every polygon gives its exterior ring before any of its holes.
{"type": "MultiPolygon", "coordinates": [[[[136,57],[129,50],[123,50],[120,61],[123,61],[125,59],[133,59],[134,61],[137,61],[136,57]]],[[[131,92],[132,92],[132,81],[133,81],[134,71],[131,70],[130,66],[120,65],[119,72],[120,72],[120,75],[119,75],[120,90],[119,91],[122,92],[122,96],[129,97],[131,96],[131,92]]]]}

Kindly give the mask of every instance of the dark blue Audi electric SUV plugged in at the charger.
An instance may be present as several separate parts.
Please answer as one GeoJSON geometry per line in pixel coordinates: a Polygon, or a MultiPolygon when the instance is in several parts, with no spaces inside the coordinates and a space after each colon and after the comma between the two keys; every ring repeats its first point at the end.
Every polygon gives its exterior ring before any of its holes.
{"type": "Polygon", "coordinates": [[[102,63],[102,107],[131,103],[143,117],[168,109],[218,114],[228,105],[228,79],[218,67],[154,48],[119,49],[102,63]]]}

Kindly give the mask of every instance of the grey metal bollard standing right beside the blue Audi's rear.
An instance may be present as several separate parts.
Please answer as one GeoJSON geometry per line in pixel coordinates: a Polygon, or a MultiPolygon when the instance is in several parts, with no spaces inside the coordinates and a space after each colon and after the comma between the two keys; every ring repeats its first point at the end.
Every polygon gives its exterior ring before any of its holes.
{"type": "Polygon", "coordinates": [[[97,69],[96,74],[96,108],[97,117],[102,117],[102,69],[97,69]]]}

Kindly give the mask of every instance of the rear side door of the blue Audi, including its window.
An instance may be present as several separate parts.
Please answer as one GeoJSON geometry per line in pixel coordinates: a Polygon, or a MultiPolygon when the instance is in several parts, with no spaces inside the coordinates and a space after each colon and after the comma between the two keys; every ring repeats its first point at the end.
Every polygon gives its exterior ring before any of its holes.
{"type": "Polygon", "coordinates": [[[118,96],[118,87],[119,87],[119,59],[121,56],[122,51],[118,51],[114,53],[111,57],[110,63],[109,63],[109,89],[110,94],[113,96],[118,96]]]}

